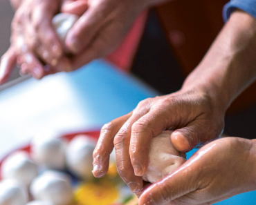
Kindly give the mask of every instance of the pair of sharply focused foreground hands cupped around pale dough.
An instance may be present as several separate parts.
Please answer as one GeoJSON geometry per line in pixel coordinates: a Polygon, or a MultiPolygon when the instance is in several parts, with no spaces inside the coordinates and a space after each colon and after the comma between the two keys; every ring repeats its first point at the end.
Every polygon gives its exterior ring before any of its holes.
{"type": "Polygon", "coordinates": [[[241,184],[247,179],[252,182],[248,171],[253,170],[248,170],[251,157],[247,158],[251,141],[244,139],[212,141],[176,173],[149,188],[142,179],[152,137],[173,129],[170,137],[175,148],[188,152],[221,135],[224,114],[208,95],[196,89],[145,99],[133,112],[103,126],[93,153],[93,174],[102,177],[107,173],[115,147],[118,173],[140,197],[140,204],[212,204],[241,193],[246,187],[241,184]]]}

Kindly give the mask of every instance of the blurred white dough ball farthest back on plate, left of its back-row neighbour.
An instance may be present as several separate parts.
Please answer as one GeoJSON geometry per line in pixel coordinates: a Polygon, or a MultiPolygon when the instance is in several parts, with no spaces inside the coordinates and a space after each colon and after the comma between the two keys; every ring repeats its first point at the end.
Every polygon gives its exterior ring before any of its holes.
{"type": "Polygon", "coordinates": [[[59,133],[46,130],[31,141],[31,156],[35,162],[46,168],[64,169],[66,166],[67,143],[59,133]]]}

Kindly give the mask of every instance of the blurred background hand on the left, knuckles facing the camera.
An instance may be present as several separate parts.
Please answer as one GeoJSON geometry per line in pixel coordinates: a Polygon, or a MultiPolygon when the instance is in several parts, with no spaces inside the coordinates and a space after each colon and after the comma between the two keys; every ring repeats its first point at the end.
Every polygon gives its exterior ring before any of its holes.
{"type": "Polygon", "coordinates": [[[1,60],[0,83],[6,81],[16,62],[22,65],[21,72],[30,72],[37,79],[69,69],[68,61],[62,57],[64,49],[51,23],[60,10],[60,3],[60,0],[24,0],[20,3],[12,21],[10,49],[1,60]],[[45,64],[55,69],[48,72],[45,64]]]}

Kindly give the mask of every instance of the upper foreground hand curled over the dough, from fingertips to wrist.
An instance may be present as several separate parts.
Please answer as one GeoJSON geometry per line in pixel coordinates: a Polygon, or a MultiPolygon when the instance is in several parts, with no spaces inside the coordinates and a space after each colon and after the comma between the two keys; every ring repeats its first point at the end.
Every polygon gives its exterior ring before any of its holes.
{"type": "Polygon", "coordinates": [[[145,99],[132,113],[103,126],[93,153],[93,174],[102,177],[107,173],[114,146],[118,173],[131,191],[141,191],[152,137],[172,129],[170,137],[175,148],[188,152],[221,135],[224,113],[210,97],[196,89],[145,99]]]}

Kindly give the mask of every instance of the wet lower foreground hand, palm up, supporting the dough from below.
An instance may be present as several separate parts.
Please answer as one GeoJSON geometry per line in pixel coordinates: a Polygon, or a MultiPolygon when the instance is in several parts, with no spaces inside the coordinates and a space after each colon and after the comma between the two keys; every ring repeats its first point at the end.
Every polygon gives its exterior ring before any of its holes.
{"type": "Polygon", "coordinates": [[[227,137],[198,150],[179,170],[147,188],[139,205],[215,204],[255,190],[256,144],[227,137]]]}

